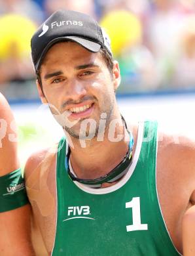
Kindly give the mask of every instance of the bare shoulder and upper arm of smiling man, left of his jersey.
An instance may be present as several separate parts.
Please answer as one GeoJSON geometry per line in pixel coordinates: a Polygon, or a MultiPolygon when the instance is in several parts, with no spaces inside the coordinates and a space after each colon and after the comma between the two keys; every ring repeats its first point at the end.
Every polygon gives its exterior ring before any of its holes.
{"type": "Polygon", "coordinates": [[[37,255],[46,255],[46,247],[50,251],[49,246],[53,244],[50,243],[50,234],[45,226],[49,226],[51,232],[52,225],[45,223],[55,219],[53,215],[56,189],[52,189],[53,182],[50,184],[51,179],[54,181],[55,160],[56,147],[54,152],[48,149],[40,150],[28,158],[24,170],[27,195],[33,209],[32,236],[37,255]]]}

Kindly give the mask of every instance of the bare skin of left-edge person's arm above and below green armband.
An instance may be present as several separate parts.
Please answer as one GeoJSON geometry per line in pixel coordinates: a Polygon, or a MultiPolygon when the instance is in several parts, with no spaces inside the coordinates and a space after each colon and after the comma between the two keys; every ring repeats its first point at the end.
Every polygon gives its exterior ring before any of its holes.
{"type": "MultiPolygon", "coordinates": [[[[0,94],[0,179],[20,167],[14,130],[14,117],[10,106],[0,94]]],[[[34,255],[30,218],[29,204],[0,213],[0,255],[34,255]]]]}

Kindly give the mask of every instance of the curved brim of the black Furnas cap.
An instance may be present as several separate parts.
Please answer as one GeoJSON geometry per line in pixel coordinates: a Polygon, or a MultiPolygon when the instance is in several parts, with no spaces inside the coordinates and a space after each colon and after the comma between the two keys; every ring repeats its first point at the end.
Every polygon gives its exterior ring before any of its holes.
{"type": "Polygon", "coordinates": [[[50,41],[50,43],[48,43],[48,45],[46,45],[46,47],[44,48],[43,53],[41,54],[41,57],[39,58],[39,60],[35,64],[35,69],[39,70],[41,62],[44,58],[44,55],[46,54],[48,49],[50,49],[50,47],[52,47],[52,45],[54,45],[55,43],[58,43],[60,41],[67,41],[67,40],[71,40],[71,41],[74,41],[76,43],[79,43],[79,45],[81,45],[86,50],[88,50],[92,53],[98,53],[100,48],[101,48],[101,45],[99,45],[99,43],[95,43],[93,41],[89,41],[89,40],[81,38],[81,37],[75,37],[75,36],[58,37],[58,38],[55,38],[54,40],[50,41]]]}

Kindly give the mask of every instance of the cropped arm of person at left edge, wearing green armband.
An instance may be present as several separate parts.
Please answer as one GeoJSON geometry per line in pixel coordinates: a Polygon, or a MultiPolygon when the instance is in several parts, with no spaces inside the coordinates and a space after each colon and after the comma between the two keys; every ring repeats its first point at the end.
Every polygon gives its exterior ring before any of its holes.
{"type": "Polygon", "coordinates": [[[30,206],[19,168],[14,117],[0,94],[0,255],[34,255],[30,206]]]}

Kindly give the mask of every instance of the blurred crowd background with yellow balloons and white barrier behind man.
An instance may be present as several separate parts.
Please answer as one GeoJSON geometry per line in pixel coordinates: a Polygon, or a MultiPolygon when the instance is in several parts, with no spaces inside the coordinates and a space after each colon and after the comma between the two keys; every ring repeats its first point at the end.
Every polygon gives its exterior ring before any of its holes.
{"type": "Polygon", "coordinates": [[[22,158],[62,136],[39,101],[30,57],[31,35],[58,9],[94,16],[111,37],[124,116],[186,123],[194,133],[194,0],[0,0],[0,91],[16,116],[22,158]]]}

